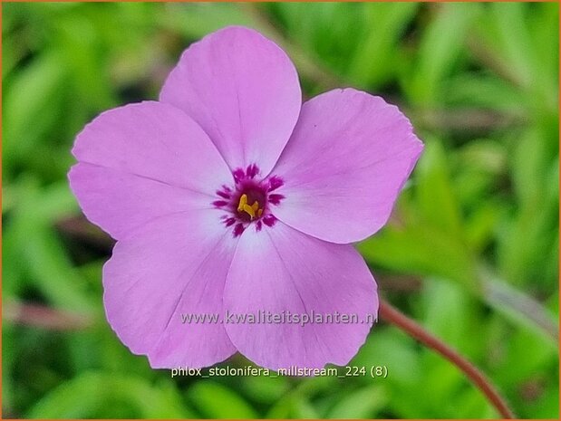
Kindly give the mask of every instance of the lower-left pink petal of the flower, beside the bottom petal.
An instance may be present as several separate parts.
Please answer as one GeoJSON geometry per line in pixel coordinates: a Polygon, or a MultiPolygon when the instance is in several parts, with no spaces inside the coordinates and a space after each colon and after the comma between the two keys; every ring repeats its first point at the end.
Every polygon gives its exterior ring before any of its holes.
{"type": "Polygon", "coordinates": [[[118,241],[103,267],[107,320],[152,368],[207,367],[236,351],[224,325],[181,321],[181,313],[221,312],[236,243],[218,216],[157,218],[118,241]]]}

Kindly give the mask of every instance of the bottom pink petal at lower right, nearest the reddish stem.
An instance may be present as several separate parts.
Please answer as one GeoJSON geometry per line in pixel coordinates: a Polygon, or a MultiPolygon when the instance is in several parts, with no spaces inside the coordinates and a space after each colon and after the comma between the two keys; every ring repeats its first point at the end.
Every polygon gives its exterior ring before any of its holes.
{"type": "Polygon", "coordinates": [[[248,359],[273,369],[322,368],[353,358],[377,314],[378,296],[372,274],[351,245],[327,243],[277,222],[241,236],[227,275],[224,307],[231,313],[228,336],[248,359]],[[356,314],[359,322],[304,327],[231,322],[236,315],[257,317],[259,311],[332,318],[338,311],[356,314]]]}

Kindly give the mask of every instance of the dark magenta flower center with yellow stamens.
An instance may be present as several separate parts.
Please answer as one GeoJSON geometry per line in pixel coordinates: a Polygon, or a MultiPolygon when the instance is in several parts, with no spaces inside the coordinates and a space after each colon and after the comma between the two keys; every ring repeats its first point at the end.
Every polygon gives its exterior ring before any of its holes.
{"type": "Polygon", "coordinates": [[[249,225],[261,231],[264,225],[271,227],[276,223],[274,206],[280,205],[285,196],[275,190],[284,182],[276,176],[259,179],[258,174],[255,164],[245,170],[237,168],[232,172],[234,186],[222,186],[217,190],[218,200],[212,202],[224,212],[222,222],[232,228],[234,236],[241,235],[249,225]]]}

